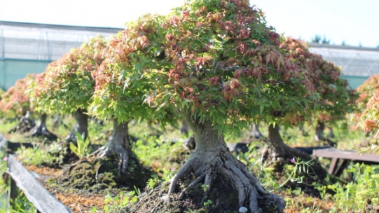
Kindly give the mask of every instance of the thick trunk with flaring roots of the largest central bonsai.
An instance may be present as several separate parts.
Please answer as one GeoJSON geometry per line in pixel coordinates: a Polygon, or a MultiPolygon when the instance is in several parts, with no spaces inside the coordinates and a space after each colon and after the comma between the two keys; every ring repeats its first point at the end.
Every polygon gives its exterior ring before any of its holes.
{"type": "MultiPolygon", "coordinates": [[[[218,135],[211,122],[200,123],[188,121],[189,119],[186,120],[194,132],[196,148],[181,170],[172,179],[168,195],[163,200],[170,202],[170,193],[176,191],[177,182],[192,173],[195,176],[195,180],[188,188],[199,184],[201,181],[207,185],[207,190],[202,200],[212,189],[215,179],[218,179],[223,185],[233,186],[238,192],[239,207],[249,207],[251,212],[261,212],[261,207],[259,207],[257,200],[260,198],[266,200],[265,203],[268,205],[276,205],[279,212],[283,211],[285,207],[284,200],[275,194],[268,193],[259,184],[258,179],[247,170],[245,165],[230,154],[223,135],[218,135]]],[[[186,190],[187,188],[181,192],[181,195],[186,190]]]]}

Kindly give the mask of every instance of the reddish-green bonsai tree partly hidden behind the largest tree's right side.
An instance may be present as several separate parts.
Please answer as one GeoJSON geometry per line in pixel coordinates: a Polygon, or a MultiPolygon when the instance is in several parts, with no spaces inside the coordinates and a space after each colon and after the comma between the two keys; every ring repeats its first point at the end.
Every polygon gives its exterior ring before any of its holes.
{"type": "Polygon", "coordinates": [[[317,118],[315,138],[331,143],[324,137],[325,123],[344,119],[345,114],[351,113],[357,99],[356,93],[347,80],[340,78],[340,67],[323,60],[321,55],[310,53],[305,42],[287,37],[282,40],[280,48],[308,72],[308,78],[319,94],[318,109],[314,115],[317,118]]]}

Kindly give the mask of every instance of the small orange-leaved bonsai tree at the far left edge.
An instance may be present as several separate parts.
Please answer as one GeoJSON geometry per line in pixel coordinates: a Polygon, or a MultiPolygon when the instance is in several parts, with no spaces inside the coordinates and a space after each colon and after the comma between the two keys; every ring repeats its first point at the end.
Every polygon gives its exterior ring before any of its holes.
{"type": "Polygon", "coordinates": [[[25,93],[33,79],[34,75],[29,74],[16,81],[15,85],[1,95],[0,111],[8,118],[21,116],[18,124],[9,132],[29,132],[36,125],[31,117],[29,97],[25,93]]]}

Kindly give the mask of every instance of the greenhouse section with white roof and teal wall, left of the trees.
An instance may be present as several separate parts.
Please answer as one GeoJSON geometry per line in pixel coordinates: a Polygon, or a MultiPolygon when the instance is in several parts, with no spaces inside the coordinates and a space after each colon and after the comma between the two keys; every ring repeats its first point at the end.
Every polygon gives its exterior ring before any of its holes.
{"type": "Polygon", "coordinates": [[[118,28],[76,27],[0,21],[0,88],[8,89],[27,73],[41,73],[71,48],[118,28]]]}

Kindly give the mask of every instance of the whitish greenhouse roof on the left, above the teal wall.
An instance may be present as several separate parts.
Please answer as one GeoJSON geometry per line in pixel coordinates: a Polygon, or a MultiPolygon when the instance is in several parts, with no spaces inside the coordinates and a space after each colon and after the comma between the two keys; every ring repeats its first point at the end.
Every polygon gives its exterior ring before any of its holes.
{"type": "Polygon", "coordinates": [[[120,30],[0,21],[0,59],[53,61],[92,37],[109,38],[120,30]]]}

